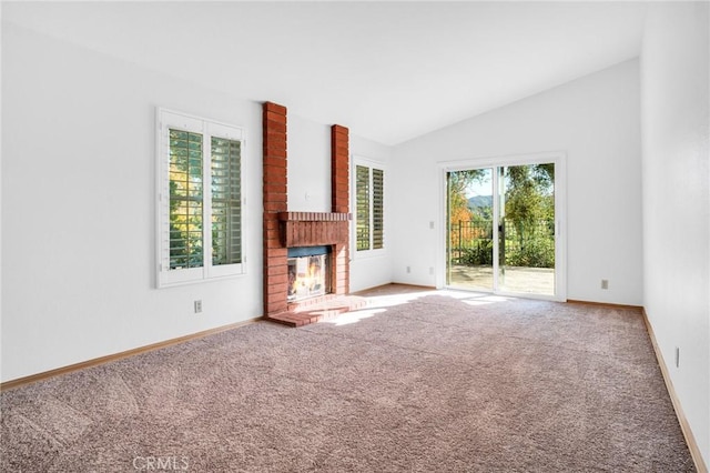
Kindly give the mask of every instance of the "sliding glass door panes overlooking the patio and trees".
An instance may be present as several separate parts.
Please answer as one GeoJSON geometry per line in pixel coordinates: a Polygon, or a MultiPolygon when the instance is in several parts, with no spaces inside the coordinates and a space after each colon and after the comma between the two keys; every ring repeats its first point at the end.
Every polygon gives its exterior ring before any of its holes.
{"type": "Polygon", "coordinates": [[[446,171],[447,286],[564,299],[559,167],[537,160],[446,171]]]}

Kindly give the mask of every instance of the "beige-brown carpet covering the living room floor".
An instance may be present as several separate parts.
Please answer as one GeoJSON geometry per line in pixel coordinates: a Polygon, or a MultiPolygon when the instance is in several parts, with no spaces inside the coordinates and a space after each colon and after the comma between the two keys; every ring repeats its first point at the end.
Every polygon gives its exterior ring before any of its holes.
{"type": "Polygon", "coordinates": [[[694,471],[638,311],[471,293],[257,322],[0,407],[3,472],[694,471]]]}

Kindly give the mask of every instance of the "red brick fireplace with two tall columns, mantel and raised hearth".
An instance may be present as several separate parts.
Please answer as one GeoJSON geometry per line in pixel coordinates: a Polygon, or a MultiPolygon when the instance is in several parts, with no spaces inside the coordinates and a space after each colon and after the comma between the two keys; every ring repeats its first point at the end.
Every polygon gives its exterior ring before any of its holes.
{"type": "MultiPolygon", "coordinates": [[[[298,326],[357,305],[349,292],[348,130],[331,127],[331,212],[288,209],[287,111],[263,104],[264,316],[298,326]],[[329,293],[290,302],[290,249],[328,249],[329,293]]],[[[324,183],[328,185],[328,183],[324,183]]]]}

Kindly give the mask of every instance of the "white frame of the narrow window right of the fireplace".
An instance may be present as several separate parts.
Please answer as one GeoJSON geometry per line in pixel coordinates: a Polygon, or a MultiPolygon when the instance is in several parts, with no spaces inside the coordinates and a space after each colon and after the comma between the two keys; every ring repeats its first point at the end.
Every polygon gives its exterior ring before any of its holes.
{"type": "Polygon", "coordinates": [[[353,258],[355,259],[359,259],[359,258],[373,258],[373,256],[379,256],[379,255],[384,255],[387,252],[387,168],[386,165],[381,162],[381,161],[375,161],[372,159],[367,159],[367,158],[362,158],[362,157],[356,157],[354,155],[352,159],[352,169],[351,169],[351,212],[353,214],[353,220],[352,220],[352,251],[351,254],[353,255],[353,258]],[[368,177],[369,177],[369,205],[368,205],[368,213],[369,213],[369,249],[368,250],[358,250],[357,249],[357,167],[365,167],[368,169],[368,177]],[[373,185],[373,181],[374,181],[374,173],[373,173],[373,169],[378,170],[383,173],[383,183],[382,183],[382,221],[383,221],[383,229],[382,229],[382,242],[383,245],[382,248],[375,249],[374,248],[374,230],[375,230],[375,224],[374,224],[374,218],[375,218],[375,212],[374,212],[374,193],[375,193],[375,189],[373,185]]]}

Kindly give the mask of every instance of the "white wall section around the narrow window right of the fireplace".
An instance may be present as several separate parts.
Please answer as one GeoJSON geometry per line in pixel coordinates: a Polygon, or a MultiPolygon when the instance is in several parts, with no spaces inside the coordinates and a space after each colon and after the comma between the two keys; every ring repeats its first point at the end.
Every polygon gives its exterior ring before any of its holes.
{"type": "MultiPolygon", "coordinates": [[[[392,205],[389,204],[394,198],[390,184],[396,179],[389,167],[392,151],[390,147],[357,137],[351,130],[351,174],[354,169],[353,160],[358,158],[381,164],[385,171],[385,250],[377,255],[364,256],[357,254],[355,246],[351,244],[351,292],[388,284],[393,279],[392,254],[397,242],[390,235],[394,227],[398,224],[398,219],[392,212],[392,205]]],[[[351,189],[351,212],[355,211],[353,190],[351,189]]]]}

